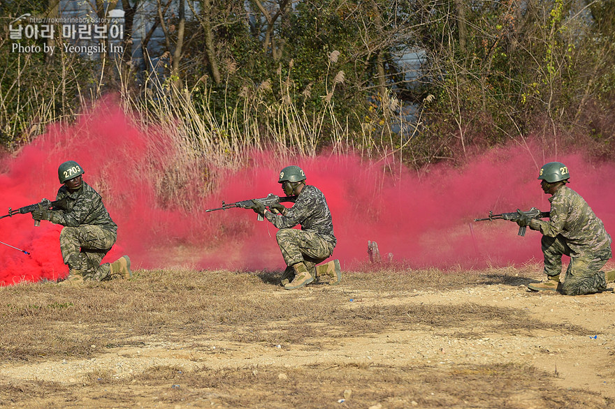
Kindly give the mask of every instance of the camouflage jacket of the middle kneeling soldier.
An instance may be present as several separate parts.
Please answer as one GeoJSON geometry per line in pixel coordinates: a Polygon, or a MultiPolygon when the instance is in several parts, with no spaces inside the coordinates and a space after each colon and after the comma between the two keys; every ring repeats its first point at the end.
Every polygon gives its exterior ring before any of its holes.
{"type": "Polygon", "coordinates": [[[331,211],[329,211],[324,195],[315,186],[303,186],[294,206],[287,209],[284,216],[266,211],[265,217],[278,229],[293,228],[300,224],[301,230],[316,233],[333,244],[333,247],[337,243],[333,235],[331,211]]]}

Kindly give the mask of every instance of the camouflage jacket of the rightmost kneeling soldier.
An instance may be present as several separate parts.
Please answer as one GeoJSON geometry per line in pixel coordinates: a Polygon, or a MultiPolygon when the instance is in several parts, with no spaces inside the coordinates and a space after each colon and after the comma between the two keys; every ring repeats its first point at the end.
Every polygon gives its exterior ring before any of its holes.
{"type": "Polygon", "coordinates": [[[562,186],[549,198],[549,202],[550,220],[533,219],[530,229],[540,230],[549,237],[562,235],[576,256],[597,253],[609,247],[611,236],[605,225],[579,193],[562,186]]]}

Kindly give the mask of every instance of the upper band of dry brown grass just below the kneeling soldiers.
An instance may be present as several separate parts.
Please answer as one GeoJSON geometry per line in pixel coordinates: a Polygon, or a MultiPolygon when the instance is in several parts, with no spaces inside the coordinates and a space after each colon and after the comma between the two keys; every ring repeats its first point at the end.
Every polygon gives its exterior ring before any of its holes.
{"type": "Polygon", "coordinates": [[[442,273],[346,274],[345,290],[312,285],[309,297],[282,290],[279,272],[232,273],[178,270],[142,271],[127,283],[89,283],[61,288],[52,283],[2,288],[0,357],[90,357],[91,345],[134,345],[140,336],[180,336],[245,343],[307,344],[321,336],[378,333],[429,326],[448,329],[475,323],[484,331],[556,329],[579,334],[579,327],[555,326],[528,318],[524,311],[477,304],[350,304],[362,292],[395,299],[407,291],[509,283],[527,278],[442,273]],[[346,290],[348,288],[348,290],[346,290]],[[407,289],[407,290],[406,290],[407,289]],[[256,295],[256,297],[255,297],[256,295]],[[318,302],[314,302],[317,299],[318,302]],[[275,330],[274,330],[275,329],[275,330]]]}

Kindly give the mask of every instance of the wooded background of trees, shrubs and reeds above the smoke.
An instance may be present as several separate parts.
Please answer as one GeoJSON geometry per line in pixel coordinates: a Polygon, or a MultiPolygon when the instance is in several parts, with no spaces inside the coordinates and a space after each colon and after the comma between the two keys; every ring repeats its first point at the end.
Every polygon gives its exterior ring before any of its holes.
{"type": "MultiPolygon", "coordinates": [[[[189,96],[190,109],[227,142],[251,129],[243,143],[274,141],[303,154],[343,139],[370,155],[393,152],[420,166],[545,128],[551,136],[595,135],[601,146],[615,137],[605,120],[615,105],[612,1],[206,3],[186,22],[179,71],[164,66],[145,84],[123,63],[103,70],[74,55],[1,53],[1,143],[29,142],[42,130],[33,124],[70,117],[85,98],[108,89],[160,110],[159,98],[150,98],[156,82],[162,98],[179,104],[186,101],[177,91],[189,96]],[[400,63],[412,50],[426,55],[414,80],[400,63]],[[413,110],[414,119],[405,117],[413,110]]],[[[0,4],[10,17],[42,15],[48,7],[44,0],[0,4]]],[[[175,51],[179,34],[168,28],[177,19],[166,14],[170,49],[160,54],[175,51]]],[[[8,38],[8,27],[0,30],[8,38]]],[[[180,111],[168,112],[187,115],[180,111]]]]}

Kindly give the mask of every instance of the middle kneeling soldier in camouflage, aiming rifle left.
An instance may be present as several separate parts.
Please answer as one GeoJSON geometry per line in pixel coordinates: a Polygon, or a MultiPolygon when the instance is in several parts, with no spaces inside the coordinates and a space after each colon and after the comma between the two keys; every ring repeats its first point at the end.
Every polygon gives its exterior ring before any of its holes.
{"type": "Polygon", "coordinates": [[[280,229],[275,238],[288,266],[282,276],[282,285],[294,290],[311,283],[318,275],[330,276],[333,284],[340,283],[339,260],[317,266],[331,257],[337,243],[324,195],[317,187],[305,184],[305,173],[298,166],[282,169],[278,183],[282,184],[284,194],[297,197],[293,207],[287,209],[278,203],[266,209],[258,200],[252,202],[256,213],[280,229]],[[301,230],[294,229],[296,225],[301,225],[301,230]]]}

